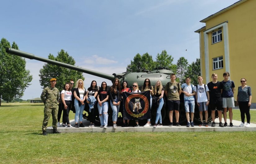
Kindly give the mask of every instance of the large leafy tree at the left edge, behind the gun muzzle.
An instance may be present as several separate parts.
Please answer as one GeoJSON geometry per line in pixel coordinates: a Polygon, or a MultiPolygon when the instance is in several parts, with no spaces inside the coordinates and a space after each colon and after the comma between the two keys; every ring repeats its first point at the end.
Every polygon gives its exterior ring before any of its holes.
{"type": "MultiPolygon", "coordinates": [[[[25,89],[32,81],[30,71],[26,70],[24,58],[6,53],[7,48],[19,50],[18,45],[2,38],[0,42],[0,98],[10,102],[13,98],[23,96],[25,89]]],[[[1,99],[0,99],[1,106],[1,99]]]]}

